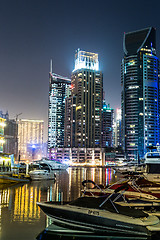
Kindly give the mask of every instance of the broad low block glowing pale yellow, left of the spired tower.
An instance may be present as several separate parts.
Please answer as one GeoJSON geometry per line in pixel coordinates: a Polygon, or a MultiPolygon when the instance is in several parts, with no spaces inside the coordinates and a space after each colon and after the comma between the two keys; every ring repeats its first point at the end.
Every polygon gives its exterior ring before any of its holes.
{"type": "Polygon", "coordinates": [[[43,120],[18,120],[18,154],[20,160],[37,160],[43,156],[43,120]]]}

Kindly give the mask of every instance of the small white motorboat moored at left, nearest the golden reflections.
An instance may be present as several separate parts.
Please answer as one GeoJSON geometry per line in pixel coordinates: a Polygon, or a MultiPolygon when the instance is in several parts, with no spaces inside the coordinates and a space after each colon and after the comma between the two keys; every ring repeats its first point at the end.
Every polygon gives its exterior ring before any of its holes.
{"type": "Polygon", "coordinates": [[[31,180],[37,181],[56,179],[56,174],[48,163],[41,162],[33,166],[36,167],[37,169],[29,172],[31,180]]]}

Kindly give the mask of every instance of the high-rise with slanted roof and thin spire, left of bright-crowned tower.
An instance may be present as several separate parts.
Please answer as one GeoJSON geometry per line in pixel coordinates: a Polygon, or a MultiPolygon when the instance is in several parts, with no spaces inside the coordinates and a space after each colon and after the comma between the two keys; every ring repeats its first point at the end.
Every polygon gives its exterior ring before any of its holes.
{"type": "Polygon", "coordinates": [[[64,147],[65,98],[70,95],[71,80],[49,73],[48,150],[64,147]]]}

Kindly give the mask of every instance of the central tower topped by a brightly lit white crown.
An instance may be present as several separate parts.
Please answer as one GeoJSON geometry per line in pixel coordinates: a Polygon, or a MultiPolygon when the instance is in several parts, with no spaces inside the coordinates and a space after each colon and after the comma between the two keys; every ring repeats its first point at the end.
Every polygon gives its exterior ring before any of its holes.
{"type": "MultiPolygon", "coordinates": [[[[98,54],[77,50],[71,77],[71,96],[75,101],[74,146],[102,146],[103,76],[99,71],[98,54]]],[[[72,100],[72,102],[73,102],[72,100]]]]}

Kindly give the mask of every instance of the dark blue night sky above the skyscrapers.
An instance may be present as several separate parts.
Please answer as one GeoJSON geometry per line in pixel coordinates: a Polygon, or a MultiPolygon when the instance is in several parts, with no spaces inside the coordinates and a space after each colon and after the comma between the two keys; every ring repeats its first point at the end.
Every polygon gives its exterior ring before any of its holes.
{"type": "Polygon", "coordinates": [[[153,26],[160,53],[160,1],[1,0],[0,109],[10,118],[48,119],[53,72],[70,77],[77,48],[99,54],[106,102],[120,107],[123,34],[153,26]]]}

